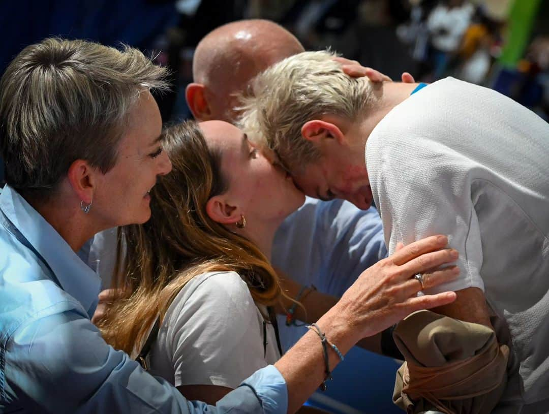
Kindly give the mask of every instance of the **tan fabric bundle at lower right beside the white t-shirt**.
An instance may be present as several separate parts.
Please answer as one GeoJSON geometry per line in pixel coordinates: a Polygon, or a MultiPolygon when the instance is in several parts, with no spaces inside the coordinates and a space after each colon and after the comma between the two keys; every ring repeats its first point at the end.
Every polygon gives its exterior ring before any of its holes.
{"type": "Polygon", "coordinates": [[[406,362],[396,373],[393,401],[408,413],[490,413],[507,384],[509,348],[494,331],[428,310],[393,332],[406,362]]]}

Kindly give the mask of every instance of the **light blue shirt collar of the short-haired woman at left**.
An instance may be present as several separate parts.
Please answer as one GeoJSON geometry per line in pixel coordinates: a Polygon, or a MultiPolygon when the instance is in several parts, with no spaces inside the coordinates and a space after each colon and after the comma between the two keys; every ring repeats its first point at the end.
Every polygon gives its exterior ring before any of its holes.
{"type": "Polygon", "coordinates": [[[91,317],[101,286],[99,276],[82,262],[63,237],[9,185],[5,185],[0,194],[0,208],[46,260],[61,283],[61,288],[78,300],[91,317]]]}

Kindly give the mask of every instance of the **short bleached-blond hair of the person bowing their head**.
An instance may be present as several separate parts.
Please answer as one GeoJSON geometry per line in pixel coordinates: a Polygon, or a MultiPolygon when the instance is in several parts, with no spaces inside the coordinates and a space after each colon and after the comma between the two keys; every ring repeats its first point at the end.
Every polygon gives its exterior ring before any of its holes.
{"type": "Polygon", "coordinates": [[[299,171],[320,158],[301,127],[322,115],[360,117],[373,98],[367,78],[351,78],[327,51],[303,52],[257,75],[240,97],[239,127],[286,168],[299,171]]]}

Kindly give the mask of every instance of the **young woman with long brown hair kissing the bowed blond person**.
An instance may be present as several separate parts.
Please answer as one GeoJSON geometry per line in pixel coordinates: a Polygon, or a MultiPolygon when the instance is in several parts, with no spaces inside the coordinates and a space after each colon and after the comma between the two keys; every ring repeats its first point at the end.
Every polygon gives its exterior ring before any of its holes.
{"type": "MultiPolygon", "coordinates": [[[[100,327],[107,342],[131,353],[159,318],[150,371],[187,398],[215,402],[281,356],[268,310],[283,296],[271,244],[304,195],[226,122],[168,128],[164,149],[172,173],[152,190],[149,222],[121,231],[127,252],[115,286],[124,297],[100,327]]],[[[431,267],[451,260],[441,256],[431,267]]],[[[433,285],[455,277],[433,275],[433,285]]],[[[395,300],[419,290],[417,281],[406,283],[412,290],[395,300]]]]}

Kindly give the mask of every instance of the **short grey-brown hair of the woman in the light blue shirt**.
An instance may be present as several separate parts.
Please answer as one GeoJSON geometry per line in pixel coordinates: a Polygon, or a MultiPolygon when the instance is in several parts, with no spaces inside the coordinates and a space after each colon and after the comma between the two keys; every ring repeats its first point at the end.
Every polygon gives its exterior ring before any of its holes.
{"type": "Polygon", "coordinates": [[[128,112],[144,90],[167,89],[165,76],[128,46],[60,38],[27,46],[0,80],[6,182],[47,197],[75,160],[109,171],[128,112]]]}

